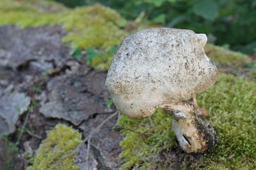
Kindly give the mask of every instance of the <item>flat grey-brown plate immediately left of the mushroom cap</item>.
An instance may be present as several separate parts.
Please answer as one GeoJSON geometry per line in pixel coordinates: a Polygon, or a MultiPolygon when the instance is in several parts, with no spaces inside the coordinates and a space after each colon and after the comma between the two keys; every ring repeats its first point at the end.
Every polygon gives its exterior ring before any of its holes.
{"type": "Polygon", "coordinates": [[[105,80],[106,73],[95,70],[53,78],[47,83],[48,102],[42,105],[40,113],[79,125],[95,113],[106,112],[109,93],[105,80]]]}

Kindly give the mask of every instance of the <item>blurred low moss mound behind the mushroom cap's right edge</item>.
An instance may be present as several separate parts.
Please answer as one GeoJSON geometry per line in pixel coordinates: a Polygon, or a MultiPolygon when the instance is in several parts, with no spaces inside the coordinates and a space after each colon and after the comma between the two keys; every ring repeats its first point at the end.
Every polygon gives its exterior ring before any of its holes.
{"type": "Polygon", "coordinates": [[[205,53],[218,67],[238,67],[250,64],[252,60],[241,52],[233,52],[212,44],[205,45],[205,53]]]}

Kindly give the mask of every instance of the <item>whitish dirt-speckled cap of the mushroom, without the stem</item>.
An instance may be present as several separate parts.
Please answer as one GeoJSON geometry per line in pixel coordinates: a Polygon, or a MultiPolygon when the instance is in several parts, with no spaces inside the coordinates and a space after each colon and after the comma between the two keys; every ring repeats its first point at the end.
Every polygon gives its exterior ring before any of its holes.
{"type": "Polygon", "coordinates": [[[116,108],[146,118],[159,105],[187,101],[211,87],[218,73],[205,55],[206,42],[205,34],[170,28],[145,29],[125,38],[106,80],[116,108]]]}

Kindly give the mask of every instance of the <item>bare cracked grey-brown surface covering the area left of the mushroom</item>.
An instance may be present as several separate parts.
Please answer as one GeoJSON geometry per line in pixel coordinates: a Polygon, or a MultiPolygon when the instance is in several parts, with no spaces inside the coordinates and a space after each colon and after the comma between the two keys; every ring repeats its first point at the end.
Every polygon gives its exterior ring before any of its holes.
{"type": "MultiPolygon", "coordinates": [[[[26,169],[29,162],[19,155],[35,153],[46,132],[56,124],[74,125],[86,137],[110,112],[115,111],[106,107],[110,97],[104,86],[106,72],[95,71],[83,62],[71,59],[70,48],[61,44],[64,34],[60,25],[26,29],[13,25],[0,27],[0,132],[15,131],[17,120],[16,126],[22,127],[25,115],[20,117],[21,112],[15,107],[22,106],[20,111],[24,113],[28,109],[28,99],[36,101],[26,132],[20,138],[20,143],[24,144],[20,154],[6,157],[7,152],[0,152],[0,169],[7,161],[11,162],[13,169],[26,169]],[[52,69],[54,74],[51,74],[52,69]],[[48,74],[42,76],[46,71],[48,74]],[[35,92],[35,88],[39,91],[35,92]],[[15,115],[10,116],[10,113],[15,115]],[[33,132],[30,127],[33,127],[33,132]]],[[[113,169],[120,165],[121,136],[112,132],[115,123],[116,118],[109,120],[93,135],[89,169],[113,169]]],[[[15,140],[17,135],[19,132],[11,137],[15,140]]],[[[8,145],[2,141],[0,150],[3,151],[4,147],[8,150],[8,145]]],[[[76,162],[82,170],[86,166],[86,145],[79,150],[76,162]]]]}

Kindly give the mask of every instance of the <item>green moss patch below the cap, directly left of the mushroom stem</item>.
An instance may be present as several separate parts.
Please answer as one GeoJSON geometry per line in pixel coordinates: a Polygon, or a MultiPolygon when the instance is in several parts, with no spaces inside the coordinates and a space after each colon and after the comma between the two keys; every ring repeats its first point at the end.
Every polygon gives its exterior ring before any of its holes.
{"type": "Polygon", "coordinates": [[[125,164],[121,169],[132,166],[142,166],[142,169],[159,167],[161,159],[157,154],[176,146],[175,134],[172,131],[172,118],[163,110],[156,110],[151,121],[150,118],[135,120],[123,115],[119,123],[127,129],[141,133],[147,132],[148,135],[147,138],[143,138],[141,134],[123,131],[125,138],[120,145],[124,152],[120,154],[120,157],[125,158],[125,164]]]}

